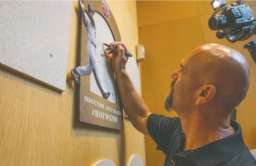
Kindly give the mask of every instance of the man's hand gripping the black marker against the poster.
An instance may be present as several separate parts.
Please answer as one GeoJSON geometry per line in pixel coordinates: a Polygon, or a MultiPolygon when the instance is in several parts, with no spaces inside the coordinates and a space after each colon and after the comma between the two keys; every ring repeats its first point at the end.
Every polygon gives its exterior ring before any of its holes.
{"type": "Polygon", "coordinates": [[[111,56],[111,66],[114,70],[115,74],[119,74],[120,72],[126,71],[126,63],[128,61],[128,56],[125,55],[125,51],[129,52],[128,48],[125,44],[121,42],[111,42],[110,46],[117,47],[118,52],[111,50],[110,48],[106,48],[108,54],[112,54],[111,56]]]}

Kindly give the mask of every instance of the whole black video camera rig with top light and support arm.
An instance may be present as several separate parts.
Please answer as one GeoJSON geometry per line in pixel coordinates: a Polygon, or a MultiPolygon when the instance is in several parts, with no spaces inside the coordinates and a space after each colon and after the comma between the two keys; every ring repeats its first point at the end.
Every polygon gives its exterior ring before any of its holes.
{"type": "MultiPolygon", "coordinates": [[[[249,5],[243,5],[242,0],[227,5],[225,0],[213,0],[213,10],[216,11],[208,21],[209,28],[216,32],[219,39],[224,37],[229,42],[244,41],[254,35],[255,19],[249,5]],[[222,10],[220,14],[217,14],[222,10]],[[217,14],[217,15],[215,15],[217,14]]],[[[256,41],[249,42],[244,46],[248,49],[252,59],[256,63],[256,41]]]]}

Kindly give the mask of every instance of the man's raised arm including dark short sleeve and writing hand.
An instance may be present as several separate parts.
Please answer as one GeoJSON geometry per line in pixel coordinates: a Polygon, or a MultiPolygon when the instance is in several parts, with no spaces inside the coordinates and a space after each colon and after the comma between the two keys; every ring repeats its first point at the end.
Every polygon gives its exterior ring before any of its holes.
{"type": "Polygon", "coordinates": [[[112,54],[111,66],[116,75],[117,86],[126,115],[135,129],[150,136],[157,144],[157,149],[167,154],[171,138],[179,135],[182,130],[180,119],[153,114],[149,111],[126,72],[128,56],[125,55],[125,51],[130,51],[121,42],[112,42],[109,45],[118,49],[117,52],[106,48],[107,54],[112,54]]]}

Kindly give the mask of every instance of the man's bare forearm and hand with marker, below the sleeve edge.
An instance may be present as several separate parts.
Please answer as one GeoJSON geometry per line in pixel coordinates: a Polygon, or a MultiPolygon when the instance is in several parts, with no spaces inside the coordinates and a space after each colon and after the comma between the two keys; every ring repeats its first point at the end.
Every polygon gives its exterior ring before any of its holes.
{"type": "Polygon", "coordinates": [[[124,111],[135,129],[150,136],[147,130],[147,118],[151,112],[140,94],[135,90],[125,69],[128,57],[124,55],[124,51],[128,51],[128,49],[120,42],[114,42],[114,44],[111,43],[110,45],[117,46],[119,52],[118,55],[118,52],[110,51],[109,48],[106,49],[109,51],[108,54],[112,54],[111,65],[116,75],[124,111]]]}

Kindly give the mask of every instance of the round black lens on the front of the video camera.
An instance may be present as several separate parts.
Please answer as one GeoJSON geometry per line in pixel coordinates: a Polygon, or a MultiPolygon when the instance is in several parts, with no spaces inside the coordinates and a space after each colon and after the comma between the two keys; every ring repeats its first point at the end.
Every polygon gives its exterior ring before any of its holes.
{"type": "Polygon", "coordinates": [[[224,29],[227,25],[227,17],[221,14],[213,16],[209,19],[208,24],[210,29],[214,31],[224,29]]]}

